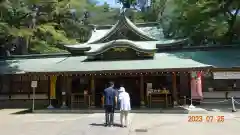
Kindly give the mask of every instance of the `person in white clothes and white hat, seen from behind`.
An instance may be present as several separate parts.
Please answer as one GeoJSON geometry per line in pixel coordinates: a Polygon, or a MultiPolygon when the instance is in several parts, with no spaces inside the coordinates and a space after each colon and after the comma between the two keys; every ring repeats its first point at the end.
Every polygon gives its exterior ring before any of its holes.
{"type": "Polygon", "coordinates": [[[128,125],[128,114],[131,110],[131,103],[130,103],[130,96],[125,91],[124,87],[120,87],[119,91],[119,102],[120,102],[120,119],[121,119],[121,126],[127,127],[128,125]],[[125,126],[123,125],[123,120],[125,119],[125,126]]]}

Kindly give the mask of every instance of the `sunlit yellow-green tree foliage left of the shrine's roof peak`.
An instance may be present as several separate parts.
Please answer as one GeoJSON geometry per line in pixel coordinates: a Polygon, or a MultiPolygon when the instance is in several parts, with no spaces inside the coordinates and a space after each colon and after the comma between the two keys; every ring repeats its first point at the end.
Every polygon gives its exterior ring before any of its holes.
{"type": "Polygon", "coordinates": [[[2,0],[1,48],[12,54],[64,52],[63,45],[88,40],[92,29],[88,24],[113,16],[107,4],[95,4],[88,0],[2,0]],[[102,16],[91,19],[96,13],[102,16]]]}

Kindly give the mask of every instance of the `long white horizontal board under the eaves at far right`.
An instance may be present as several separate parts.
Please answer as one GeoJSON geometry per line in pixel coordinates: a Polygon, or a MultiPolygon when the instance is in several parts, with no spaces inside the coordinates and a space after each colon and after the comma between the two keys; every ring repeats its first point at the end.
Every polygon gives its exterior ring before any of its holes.
{"type": "Polygon", "coordinates": [[[240,79],[240,72],[214,72],[213,79],[240,79]]]}

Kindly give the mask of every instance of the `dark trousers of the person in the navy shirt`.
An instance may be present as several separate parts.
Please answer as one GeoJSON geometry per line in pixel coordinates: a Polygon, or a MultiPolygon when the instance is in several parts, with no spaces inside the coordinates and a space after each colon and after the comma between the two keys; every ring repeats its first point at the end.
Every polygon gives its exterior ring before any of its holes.
{"type": "Polygon", "coordinates": [[[105,124],[108,126],[113,125],[113,119],[114,119],[114,106],[105,105],[105,124]]]}

